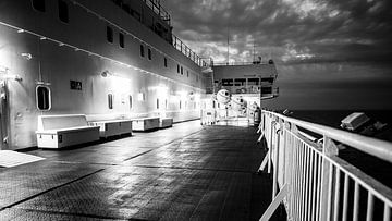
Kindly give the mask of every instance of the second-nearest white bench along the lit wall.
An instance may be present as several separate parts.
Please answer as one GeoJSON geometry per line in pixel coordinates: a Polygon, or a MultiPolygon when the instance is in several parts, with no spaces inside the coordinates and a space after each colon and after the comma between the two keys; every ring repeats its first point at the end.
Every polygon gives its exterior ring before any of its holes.
{"type": "Polygon", "coordinates": [[[132,135],[131,120],[91,121],[88,122],[88,124],[91,126],[99,126],[99,136],[103,138],[122,134],[132,135]]]}

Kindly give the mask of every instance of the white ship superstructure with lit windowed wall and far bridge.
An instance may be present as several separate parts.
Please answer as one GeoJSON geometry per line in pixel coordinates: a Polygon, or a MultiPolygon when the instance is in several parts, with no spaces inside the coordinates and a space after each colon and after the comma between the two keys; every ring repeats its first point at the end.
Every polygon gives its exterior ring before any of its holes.
{"type": "MultiPolygon", "coordinates": [[[[211,66],[172,29],[159,0],[1,1],[0,149],[37,146],[39,115],[199,119],[220,65],[211,66]]],[[[266,65],[274,66],[254,62],[244,69],[266,65]]],[[[250,94],[261,93],[261,75],[268,87],[277,76],[275,70],[246,72],[231,78],[256,87],[250,94]]],[[[233,94],[255,97],[238,91],[233,94]]]]}

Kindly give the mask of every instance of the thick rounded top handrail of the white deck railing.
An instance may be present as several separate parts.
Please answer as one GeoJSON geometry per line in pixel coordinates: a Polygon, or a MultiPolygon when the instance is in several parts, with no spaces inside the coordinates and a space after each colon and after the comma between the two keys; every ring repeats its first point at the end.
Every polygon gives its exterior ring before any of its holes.
{"type": "MultiPolygon", "coordinates": [[[[267,112],[267,111],[264,111],[264,112],[267,112]]],[[[392,144],[389,142],[376,139],[372,137],[366,137],[366,136],[350,133],[346,131],[336,130],[336,128],[323,126],[320,124],[309,123],[309,122],[301,121],[301,120],[293,119],[293,118],[287,118],[285,115],[282,115],[280,113],[275,113],[275,112],[268,111],[267,113],[279,116],[280,119],[282,119],[286,122],[296,124],[297,126],[301,126],[308,131],[315,132],[320,135],[324,135],[329,138],[332,138],[336,142],[348,145],[353,148],[362,150],[371,156],[383,159],[388,162],[392,162],[392,144]]]]}

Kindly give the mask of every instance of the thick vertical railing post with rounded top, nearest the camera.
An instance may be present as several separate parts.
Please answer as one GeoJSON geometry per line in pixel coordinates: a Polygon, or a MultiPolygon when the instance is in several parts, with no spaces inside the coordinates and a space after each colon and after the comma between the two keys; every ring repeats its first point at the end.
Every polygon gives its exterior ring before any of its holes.
{"type": "MultiPolygon", "coordinates": [[[[328,214],[331,213],[332,206],[328,205],[331,202],[331,199],[329,199],[329,196],[332,197],[333,193],[329,193],[330,186],[332,185],[332,181],[330,179],[333,179],[333,175],[330,176],[330,173],[333,172],[333,167],[329,162],[327,157],[336,156],[338,155],[338,147],[333,143],[332,139],[324,136],[323,137],[323,146],[322,146],[322,171],[321,171],[321,194],[320,194],[320,205],[319,205],[319,211],[320,211],[320,220],[327,220],[328,214]],[[329,208],[329,209],[327,209],[329,208]]],[[[332,173],[333,174],[333,173],[332,173]]],[[[333,191],[333,188],[331,188],[333,191]]]]}

